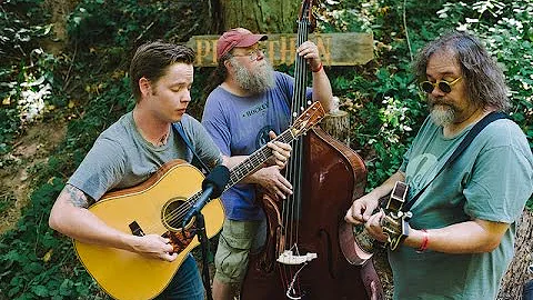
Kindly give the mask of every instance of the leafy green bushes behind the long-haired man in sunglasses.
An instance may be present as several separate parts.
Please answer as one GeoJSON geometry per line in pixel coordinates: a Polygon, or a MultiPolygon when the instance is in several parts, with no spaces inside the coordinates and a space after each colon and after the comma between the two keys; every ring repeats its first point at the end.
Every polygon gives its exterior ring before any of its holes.
{"type": "Polygon", "coordinates": [[[365,68],[355,68],[354,72],[336,68],[329,72],[334,93],[348,98],[341,108],[352,114],[353,147],[362,150],[368,162],[369,189],[398,169],[405,146],[426,116],[424,98],[419,94],[410,70],[412,57],[428,41],[451,29],[467,29],[479,36],[502,63],[511,90],[512,117],[533,144],[533,71],[524,68],[533,63],[531,0],[328,3],[340,11],[326,16],[341,20],[326,19],[322,30],[348,29],[350,12],[356,11],[360,18],[355,23],[361,29],[370,23],[376,41],[375,59],[365,68]]]}

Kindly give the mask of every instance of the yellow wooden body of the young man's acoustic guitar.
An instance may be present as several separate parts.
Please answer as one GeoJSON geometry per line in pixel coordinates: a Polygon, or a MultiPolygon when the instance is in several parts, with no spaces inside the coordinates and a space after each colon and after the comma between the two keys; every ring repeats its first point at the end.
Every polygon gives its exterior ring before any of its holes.
{"type": "MultiPolygon", "coordinates": [[[[132,228],[144,234],[181,234],[181,222],[169,226],[172,210],[188,209],[184,202],[201,190],[203,174],[182,160],[171,161],[140,186],[110,192],[91,206],[89,211],[108,226],[130,234],[132,228]],[[181,209],[177,209],[182,204],[181,209]],[[169,211],[171,212],[169,214],[169,211]],[[179,230],[177,230],[179,229],[179,230]]],[[[215,236],[224,221],[224,210],[219,199],[210,201],[203,209],[208,238],[215,236]]],[[[192,221],[190,222],[190,224],[192,221]]],[[[190,224],[188,229],[190,230],[190,224]]],[[[115,299],[151,299],[161,293],[178,271],[187,254],[199,244],[198,238],[188,236],[173,262],[145,258],[117,249],[83,243],[74,240],[74,248],[83,267],[115,299]]],[[[178,241],[179,242],[179,241],[178,241]]],[[[174,244],[174,243],[173,243],[174,244]]],[[[179,248],[179,247],[178,247],[179,248]]]]}

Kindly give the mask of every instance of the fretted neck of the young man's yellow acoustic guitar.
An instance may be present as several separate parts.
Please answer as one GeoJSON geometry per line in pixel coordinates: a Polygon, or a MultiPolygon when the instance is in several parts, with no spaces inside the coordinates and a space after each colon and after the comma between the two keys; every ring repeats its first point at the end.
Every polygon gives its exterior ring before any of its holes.
{"type": "MultiPolygon", "coordinates": [[[[292,133],[291,129],[292,128],[289,128],[288,130],[283,131],[283,133],[278,136],[273,141],[281,141],[284,143],[292,142],[296,138],[296,136],[292,133]]],[[[228,184],[225,186],[224,191],[233,187],[234,184],[237,184],[247,176],[257,171],[261,167],[261,164],[263,164],[263,162],[265,162],[270,157],[272,157],[272,149],[270,149],[265,144],[261,147],[259,150],[257,150],[255,152],[253,152],[252,154],[250,154],[241,163],[233,167],[230,170],[230,180],[228,181],[228,184]]]]}

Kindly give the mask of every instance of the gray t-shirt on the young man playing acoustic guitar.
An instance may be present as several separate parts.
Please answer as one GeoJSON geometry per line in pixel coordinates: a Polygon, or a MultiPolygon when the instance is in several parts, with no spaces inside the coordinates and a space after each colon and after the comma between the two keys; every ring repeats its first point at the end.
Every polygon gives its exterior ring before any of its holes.
{"type": "MultiPolygon", "coordinates": [[[[221,163],[220,150],[205,129],[189,114],[181,120],[200,159],[212,168],[221,163]]],[[[148,142],[137,129],[132,112],[103,131],[67,183],[99,200],[107,191],[137,186],[174,159],[191,162],[192,152],[172,129],[164,146],[148,142]]]]}

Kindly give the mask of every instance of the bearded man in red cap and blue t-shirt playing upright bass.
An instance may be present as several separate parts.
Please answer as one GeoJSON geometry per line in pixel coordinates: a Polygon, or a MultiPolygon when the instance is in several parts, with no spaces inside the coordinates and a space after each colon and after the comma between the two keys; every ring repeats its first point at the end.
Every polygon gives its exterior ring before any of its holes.
{"type": "MultiPolygon", "coordinates": [[[[265,34],[235,28],[217,43],[218,78],[210,82],[214,89],[205,101],[202,123],[230,168],[290,126],[294,79],[274,71],[265,59],[261,41],[266,39],[265,34]]],[[[306,59],[312,71],[308,99],[320,100],[330,110],[333,94],[316,46],[305,41],[295,54],[306,59]]],[[[292,193],[291,182],[280,172],[283,167],[262,168],[222,194],[225,221],[214,259],[213,299],[233,299],[247,272],[250,251],[264,243],[266,221],[255,187],[280,200],[292,193]]]]}

